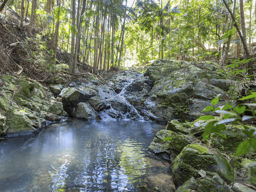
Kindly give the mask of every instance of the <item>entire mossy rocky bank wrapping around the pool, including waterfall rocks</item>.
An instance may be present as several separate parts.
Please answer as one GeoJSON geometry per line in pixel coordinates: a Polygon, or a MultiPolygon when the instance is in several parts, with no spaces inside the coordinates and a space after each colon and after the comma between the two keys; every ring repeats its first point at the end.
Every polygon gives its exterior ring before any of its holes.
{"type": "MultiPolygon", "coordinates": [[[[211,105],[216,95],[221,95],[222,103],[228,102],[226,92],[231,80],[218,72],[220,68],[209,61],[192,64],[160,59],[144,74],[122,71],[105,84],[89,76],[88,82],[71,82],[64,86],[65,77],[56,76],[47,81],[47,87],[29,78],[2,75],[0,134],[35,133],[44,125],[68,117],[168,122],[166,129],[156,134],[148,153],[172,164],[172,182],[177,191],[250,191],[253,189],[228,182],[213,157],[216,148],[234,152],[244,139],[241,127],[236,128],[241,137],[230,136],[223,140],[212,135],[214,143],[211,144],[195,140],[193,136],[193,127],[203,127],[203,122],[196,119],[204,115],[202,110],[211,105]],[[185,120],[193,123],[180,124],[185,120]],[[166,137],[171,139],[164,141],[166,137]]],[[[251,150],[250,159],[254,154],[251,150]]],[[[256,162],[250,159],[228,160],[233,170],[249,167],[252,185],[256,187],[256,162]]]]}

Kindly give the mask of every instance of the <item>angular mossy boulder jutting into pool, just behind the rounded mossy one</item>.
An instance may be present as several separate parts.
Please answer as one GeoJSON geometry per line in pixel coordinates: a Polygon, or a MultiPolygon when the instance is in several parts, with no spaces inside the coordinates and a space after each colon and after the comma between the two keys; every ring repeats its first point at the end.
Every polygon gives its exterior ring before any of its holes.
{"type": "Polygon", "coordinates": [[[161,130],[156,133],[147,151],[172,162],[182,149],[189,144],[188,137],[181,136],[170,130],[161,130]]]}

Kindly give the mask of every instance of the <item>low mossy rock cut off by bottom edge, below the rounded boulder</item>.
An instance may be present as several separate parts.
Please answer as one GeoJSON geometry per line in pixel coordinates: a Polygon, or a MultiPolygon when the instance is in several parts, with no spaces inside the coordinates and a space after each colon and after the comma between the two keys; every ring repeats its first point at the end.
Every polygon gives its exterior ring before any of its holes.
{"type": "Polygon", "coordinates": [[[218,175],[206,176],[199,180],[191,177],[176,192],[230,192],[229,186],[218,175]]]}

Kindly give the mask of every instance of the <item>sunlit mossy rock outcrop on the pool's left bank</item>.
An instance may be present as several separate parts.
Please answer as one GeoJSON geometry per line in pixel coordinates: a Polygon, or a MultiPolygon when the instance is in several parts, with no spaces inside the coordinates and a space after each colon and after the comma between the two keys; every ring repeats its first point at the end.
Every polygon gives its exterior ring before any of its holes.
{"type": "Polygon", "coordinates": [[[67,116],[52,92],[29,78],[0,76],[0,136],[38,132],[53,120],[67,116]]]}

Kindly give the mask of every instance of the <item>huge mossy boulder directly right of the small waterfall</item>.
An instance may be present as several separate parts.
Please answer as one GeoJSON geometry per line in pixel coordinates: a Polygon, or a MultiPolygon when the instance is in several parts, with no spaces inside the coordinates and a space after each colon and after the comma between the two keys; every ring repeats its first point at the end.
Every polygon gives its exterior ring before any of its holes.
{"type": "Polygon", "coordinates": [[[177,119],[195,120],[204,115],[202,110],[217,94],[224,102],[228,99],[224,90],[211,84],[213,73],[187,61],[155,60],[148,67],[154,83],[151,99],[160,107],[171,107],[177,119]],[[185,114],[188,116],[184,118],[185,114]]]}

